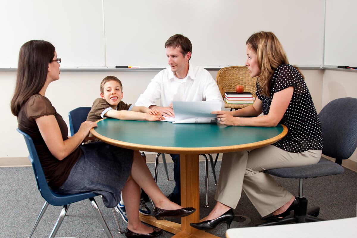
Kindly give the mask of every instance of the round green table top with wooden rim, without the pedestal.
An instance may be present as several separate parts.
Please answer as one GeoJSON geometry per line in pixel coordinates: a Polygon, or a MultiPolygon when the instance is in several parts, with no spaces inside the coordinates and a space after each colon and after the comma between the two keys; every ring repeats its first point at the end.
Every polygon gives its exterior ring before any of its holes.
{"type": "Polygon", "coordinates": [[[285,126],[218,126],[215,123],[127,121],[106,118],[91,130],[112,145],[153,152],[223,152],[270,145],[287,133],[285,126]]]}

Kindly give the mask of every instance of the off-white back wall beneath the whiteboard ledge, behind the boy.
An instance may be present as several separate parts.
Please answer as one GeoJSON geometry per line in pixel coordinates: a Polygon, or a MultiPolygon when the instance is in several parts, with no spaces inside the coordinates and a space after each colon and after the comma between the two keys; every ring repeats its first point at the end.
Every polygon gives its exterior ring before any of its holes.
{"type": "MultiPolygon", "coordinates": [[[[323,70],[303,70],[306,84],[310,89],[315,107],[321,110],[322,75],[323,70]]],[[[67,125],[68,112],[76,107],[91,106],[96,97],[99,97],[99,85],[107,75],[114,75],[123,83],[126,103],[135,103],[155,76],[156,71],[107,71],[107,72],[61,72],[60,79],[50,84],[46,97],[50,99],[57,112],[62,115],[67,125]]],[[[210,71],[216,79],[217,71],[210,71]]],[[[16,81],[15,71],[0,71],[0,110],[3,112],[1,121],[2,137],[0,138],[0,158],[27,157],[28,151],[22,136],[15,131],[17,120],[10,112],[10,100],[14,93],[16,81]]]]}

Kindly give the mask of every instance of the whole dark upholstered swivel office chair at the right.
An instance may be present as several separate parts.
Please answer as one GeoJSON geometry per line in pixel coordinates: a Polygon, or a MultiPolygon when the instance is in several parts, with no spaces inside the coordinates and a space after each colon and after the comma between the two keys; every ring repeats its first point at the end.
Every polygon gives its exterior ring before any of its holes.
{"type": "Polygon", "coordinates": [[[342,159],[351,157],[357,147],[357,98],[344,97],[329,102],[318,114],[322,126],[322,154],[336,158],[336,162],[322,161],[299,167],[269,169],[266,173],[282,178],[298,178],[300,206],[281,221],[264,222],[257,226],[286,223],[323,221],[317,218],[320,207],[307,209],[307,199],[303,197],[303,179],[344,172],[342,159]]]}

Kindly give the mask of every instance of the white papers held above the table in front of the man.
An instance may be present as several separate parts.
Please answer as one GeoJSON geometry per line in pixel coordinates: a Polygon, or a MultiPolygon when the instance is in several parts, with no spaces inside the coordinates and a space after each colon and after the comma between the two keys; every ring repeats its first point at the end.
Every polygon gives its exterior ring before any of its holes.
{"type": "Polygon", "coordinates": [[[175,117],[165,117],[166,122],[173,123],[214,123],[217,120],[212,111],[221,110],[221,102],[172,102],[175,117]]]}

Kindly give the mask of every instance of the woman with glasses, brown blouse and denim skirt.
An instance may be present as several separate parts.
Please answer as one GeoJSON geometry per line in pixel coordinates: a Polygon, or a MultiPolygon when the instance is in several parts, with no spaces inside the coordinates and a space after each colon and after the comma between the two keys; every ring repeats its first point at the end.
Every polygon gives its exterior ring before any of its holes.
{"type": "Polygon", "coordinates": [[[115,207],[120,192],[125,202],[127,237],[155,237],[159,228],[145,226],[139,220],[140,187],[155,202],[154,216],[183,217],[195,212],[171,202],[157,187],[139,151],[107,145],[104,142],[81,143],[95,122],[85,121],[68,138],[63,118],[45,97],[49,84],[59,79],[61,59],[47,41],[32,40],[22,45],[11,112],[19,129],[35,143],[41,166],[50,188],[58,193],[92,191],[103,195],[106,207],[115,207]]]}

